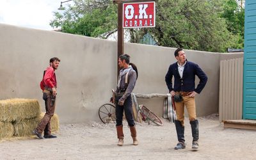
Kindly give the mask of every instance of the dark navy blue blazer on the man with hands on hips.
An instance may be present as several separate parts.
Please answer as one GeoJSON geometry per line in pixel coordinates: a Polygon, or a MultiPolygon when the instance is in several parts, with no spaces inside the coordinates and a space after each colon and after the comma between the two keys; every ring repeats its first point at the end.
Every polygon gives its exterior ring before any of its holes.
{"type": "Polygon", "coordinates": [[[202,92],[207,83],[207,76],[204,71],[196,64],[191,61],[187,61],[184,66],[182,78],[180,77],[178,64],[173,63],[170,65],[168,72],[165,76],[165,82],[169,89],[174,92],[202,92]],[[195,88],[195,76],[200,79],[198,86],[195,88]],[[174,77],[174,86],[172,87],[172,77],[174,77]]]}

